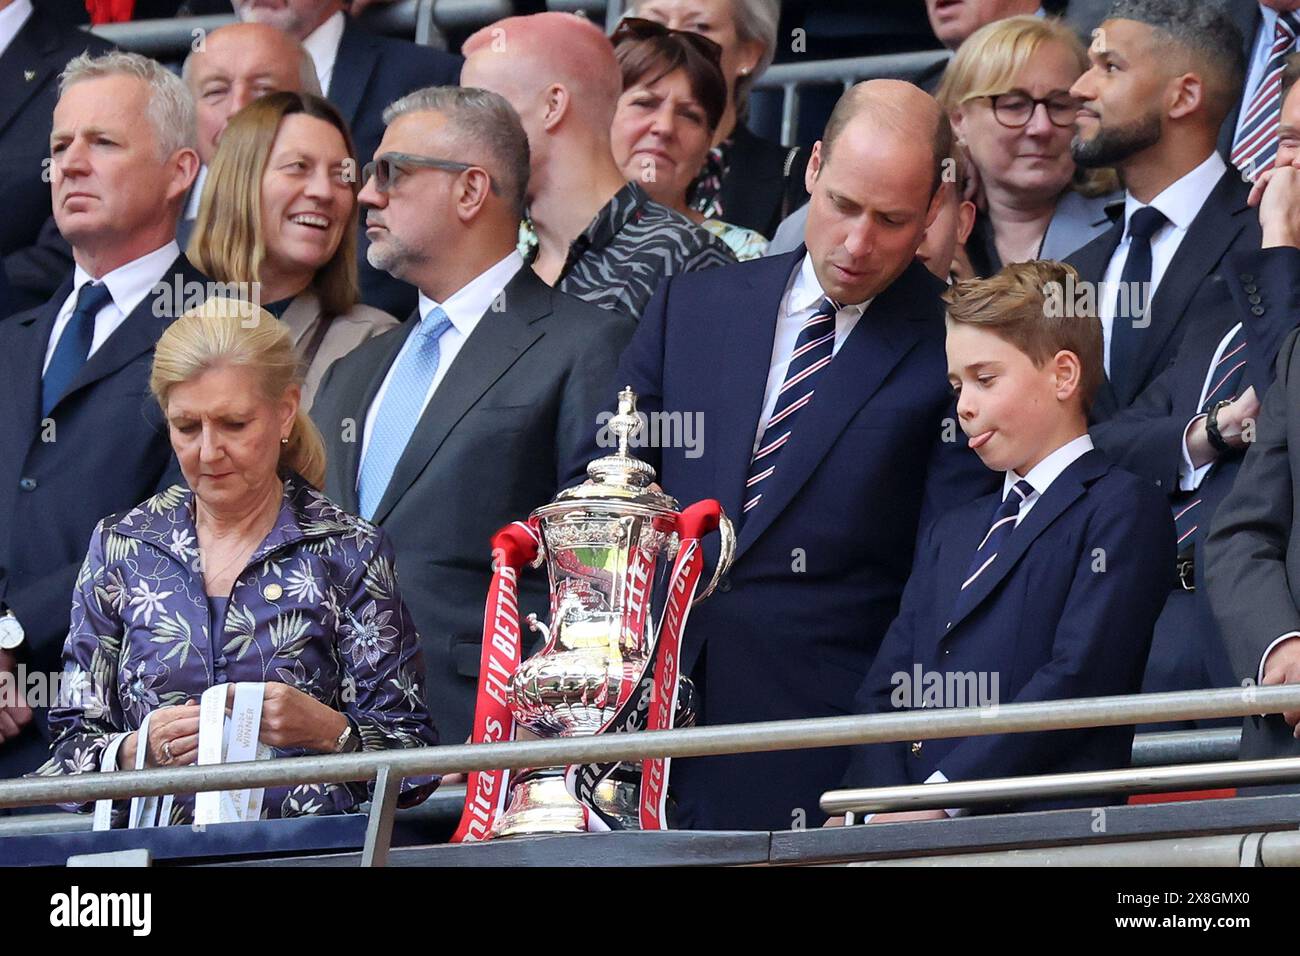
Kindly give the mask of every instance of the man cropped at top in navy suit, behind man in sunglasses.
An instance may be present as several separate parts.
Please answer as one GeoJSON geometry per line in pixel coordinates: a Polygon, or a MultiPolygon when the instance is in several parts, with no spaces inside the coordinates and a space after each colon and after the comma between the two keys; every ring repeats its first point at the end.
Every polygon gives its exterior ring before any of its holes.
{"type": "MultiPolygon", "coordinates": [[[[460,57],[391,36],[368,33],[344,13],[343,0],[285,0],[272,8],[233,0],[242,21],[269,23],[302,43],[316,61],[320,87],[347,120],[358,160],[369,163],[384,137],[384,108],[425,86],[455,86],[460,57]]],[[[408,315],[416,290],[367,260],[369,239],[356,243],[361,300],[390,315],[408,315]]]]}

